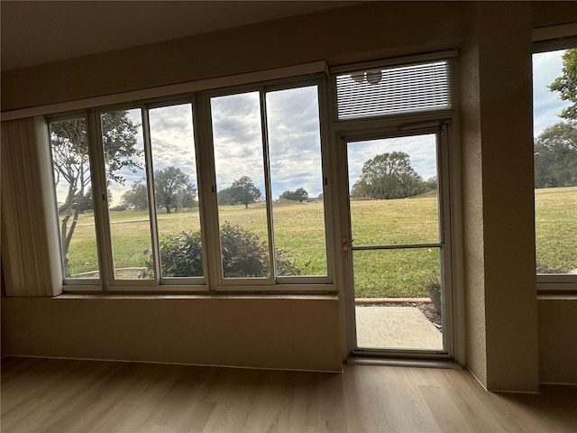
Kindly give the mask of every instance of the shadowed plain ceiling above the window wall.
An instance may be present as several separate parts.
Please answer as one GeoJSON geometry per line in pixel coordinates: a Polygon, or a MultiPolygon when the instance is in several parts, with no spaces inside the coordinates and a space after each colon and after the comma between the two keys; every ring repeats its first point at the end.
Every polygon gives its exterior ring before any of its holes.
{"type": "Polygon", "coordinates": [[[1,66],[25,68],[354,3],[2,0],[1,66]]]}

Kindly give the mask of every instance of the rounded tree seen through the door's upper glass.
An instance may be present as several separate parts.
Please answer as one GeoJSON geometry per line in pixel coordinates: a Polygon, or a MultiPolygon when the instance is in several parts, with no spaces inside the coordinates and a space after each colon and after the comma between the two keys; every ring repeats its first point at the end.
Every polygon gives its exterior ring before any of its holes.
{"type": "Polygon", "coordinates": [[[354,183],[351,196],[407,198],[422,192],[422,183],[407,153],[382,153],[364,162],[361,178],[354,183]]]}

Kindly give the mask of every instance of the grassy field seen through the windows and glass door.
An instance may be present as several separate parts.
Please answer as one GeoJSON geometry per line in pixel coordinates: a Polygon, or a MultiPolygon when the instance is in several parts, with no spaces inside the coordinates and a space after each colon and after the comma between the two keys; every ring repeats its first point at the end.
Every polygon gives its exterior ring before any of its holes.
{"type": "MultiPolygon", "coordinates": [[[[324,275],[325,232],[322,203],[273,207],[275,243],[308,275],[324,275]]],[[[150,248],[148,217],[142,212],[111,212],[114,263],[117,268],[144,266],[150,248]]],[[[354,245],[434,244],[439,232],[435,197],[353,201],[354,245]]],[[[263,204],[220,207],[221,224],[238,224],[266,239],[263,204]]],[[[198,212],[160,214],[159,232],[198,230],[198,212]]],[[[94,220],[83,215],[70,245],[73,273],[96,269],[94,220]]],[[[577,187],[536,190],[537,263],[552,272],[577,268],[577,187]]],[[[440,267],[436,248],[356,251],[353,253],[357,296],[426,296],[426,281],[440,267]]]]}

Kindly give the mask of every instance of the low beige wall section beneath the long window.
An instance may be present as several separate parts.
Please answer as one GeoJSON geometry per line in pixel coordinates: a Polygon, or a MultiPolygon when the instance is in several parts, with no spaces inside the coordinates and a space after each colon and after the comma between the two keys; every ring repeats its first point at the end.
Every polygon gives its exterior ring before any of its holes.
{"type": "Polygon", "coordinates": [[[335,296],[2,299],[6,354],[341,371],[335,296]]]}

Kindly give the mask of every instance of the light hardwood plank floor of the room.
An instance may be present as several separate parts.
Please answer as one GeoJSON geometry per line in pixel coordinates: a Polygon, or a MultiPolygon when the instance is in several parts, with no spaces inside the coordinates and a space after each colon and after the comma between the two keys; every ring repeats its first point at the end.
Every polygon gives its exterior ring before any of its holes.
{"type": "Polygon", "coordinates": [[[5,357],[1,431],[569,432],[577,387],[485,392],[458,370],[343,374],[5,357]]]}

